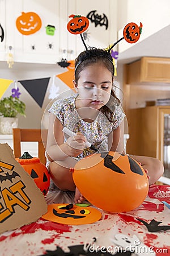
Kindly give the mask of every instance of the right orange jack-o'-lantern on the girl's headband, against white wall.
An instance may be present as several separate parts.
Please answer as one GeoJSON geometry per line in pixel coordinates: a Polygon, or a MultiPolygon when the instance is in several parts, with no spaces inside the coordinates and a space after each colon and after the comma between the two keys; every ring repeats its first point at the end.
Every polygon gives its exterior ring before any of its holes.
{"type": "Polygon", "coordinates": [[[126,42],[128,43],[131,43],[131,44],[136,43],[139,40],[141,33],[142,33],[141,22],[140,22],[140,26],[131,22],[124,27],[123,34],[126,42]]]}

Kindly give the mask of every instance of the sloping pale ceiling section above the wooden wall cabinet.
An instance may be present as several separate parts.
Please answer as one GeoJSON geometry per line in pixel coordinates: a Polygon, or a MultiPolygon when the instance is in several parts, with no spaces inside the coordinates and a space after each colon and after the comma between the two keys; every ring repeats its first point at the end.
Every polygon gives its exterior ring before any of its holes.
{"type": "Polygon", "coordinates": [[[170,57],[170,25],[119,53],[118,63],[131,63],[143,56],[170,57]]]}

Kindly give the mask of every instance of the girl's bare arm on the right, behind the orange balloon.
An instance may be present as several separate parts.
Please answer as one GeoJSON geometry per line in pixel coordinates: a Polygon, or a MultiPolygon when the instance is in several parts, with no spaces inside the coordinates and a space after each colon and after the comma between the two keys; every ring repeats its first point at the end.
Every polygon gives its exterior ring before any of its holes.
{"type": "Polygon", "coordinates": [[[124,148],[124,121],[121,122],[117,129],[113,130],[108,136],[109,151],[117,151],[125,154],[124,148]]]}

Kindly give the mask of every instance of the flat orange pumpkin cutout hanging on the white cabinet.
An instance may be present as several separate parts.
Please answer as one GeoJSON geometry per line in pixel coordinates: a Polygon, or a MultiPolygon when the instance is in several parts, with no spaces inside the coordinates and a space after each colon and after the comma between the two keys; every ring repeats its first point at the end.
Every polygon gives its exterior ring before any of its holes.
{"type": "Polygon", "coordinates": [[[33,12],[22,12],[22,15],[16,19],[16,28],[23,35],[31,35],[39,31],[41,24],[40,16],[33,12]]]}

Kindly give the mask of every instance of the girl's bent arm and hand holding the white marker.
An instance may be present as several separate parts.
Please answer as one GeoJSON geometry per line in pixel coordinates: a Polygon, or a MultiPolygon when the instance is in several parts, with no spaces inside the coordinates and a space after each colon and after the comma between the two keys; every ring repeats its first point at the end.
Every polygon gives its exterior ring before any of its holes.
{"type": "Polygon", "coordinates": [[[62,123],[56,116],[50,113],[48,138],[46,142],[46,154],[50,162],[63,160],[69,156],[78,156],[83,151],[83,144],[86,138],[78,133],[75,137],[70,137],[64,143],[62,123]]]}

